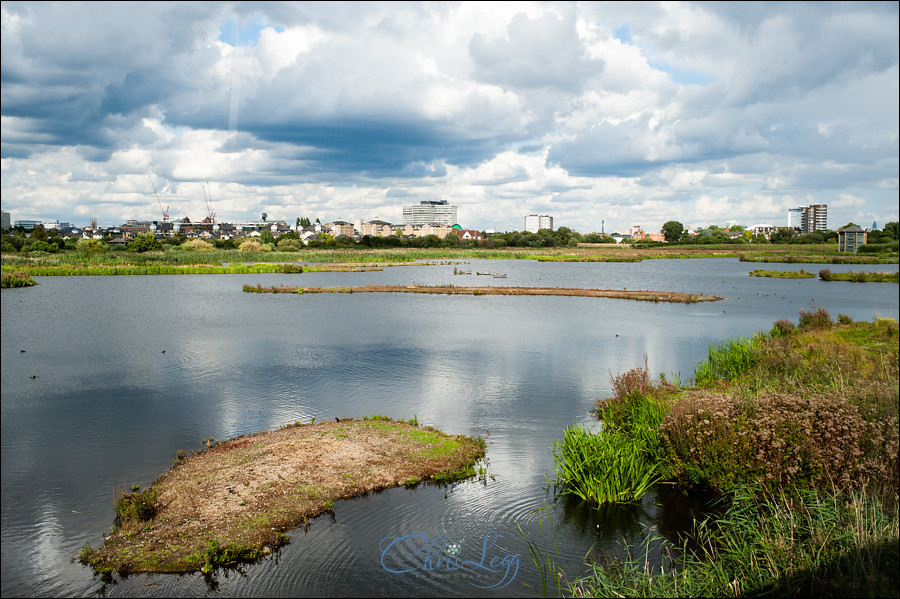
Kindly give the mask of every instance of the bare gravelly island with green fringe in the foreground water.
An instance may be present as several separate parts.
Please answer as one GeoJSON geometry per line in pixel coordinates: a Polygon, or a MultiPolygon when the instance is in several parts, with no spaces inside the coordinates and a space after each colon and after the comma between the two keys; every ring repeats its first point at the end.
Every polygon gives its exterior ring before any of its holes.
{"type": "Polygon", "coordinates": [[[476,475],[482,439],[386,416],[288,425],[187,456],[149,488],[116,500],[115,530],[80,561],[113,572],[210,572],[252,562],[288,542],[285,531],[338,499],[419,481],[476,475]]]}

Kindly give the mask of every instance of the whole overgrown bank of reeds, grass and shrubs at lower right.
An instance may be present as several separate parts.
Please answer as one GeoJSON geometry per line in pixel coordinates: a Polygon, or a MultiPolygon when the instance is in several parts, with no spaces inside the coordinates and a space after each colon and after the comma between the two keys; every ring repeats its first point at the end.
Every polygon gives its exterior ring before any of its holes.
{"type": "MultiPolygon", "coordinates": [[[[897,596],[898,349],[894,320],[817,309],[711,348],[697,369],[706,386],[654,383],[646,361],[615,377],[614,397],[597,402],[603,430],[567,430],[555,446],[558,478],[600,504],[594,463],[629,456],[642,464],[632,482],[652,472],[713,492],[721,515],[677,539],[653,527],[573,580],[539,564],[550,554],[529,540],[532,559],[576,597],[897,596]]],[[[627,497],[613,483],[608,496],[627,497]]]]}

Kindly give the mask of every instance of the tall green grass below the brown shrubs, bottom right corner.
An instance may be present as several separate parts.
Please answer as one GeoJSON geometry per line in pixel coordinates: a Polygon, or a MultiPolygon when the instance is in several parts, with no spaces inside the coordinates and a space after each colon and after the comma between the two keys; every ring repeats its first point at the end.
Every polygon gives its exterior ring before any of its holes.
{"type": "Polygon", "coordinates": [[[635,553],[604,555],[571,596],[896,596],[897,503],[865,491],[736,489],[724,516],[697,523],[700,550],[652,531],[635,553]],[[657,555],[657,552],[659,553],[657,555]],[[658,564],[658,565],[651,565],[658,564]]]}

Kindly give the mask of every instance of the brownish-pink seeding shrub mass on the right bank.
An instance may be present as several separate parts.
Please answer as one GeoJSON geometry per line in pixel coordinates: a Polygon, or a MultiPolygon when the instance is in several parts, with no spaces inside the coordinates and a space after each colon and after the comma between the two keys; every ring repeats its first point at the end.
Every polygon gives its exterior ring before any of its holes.
{"type": "Polygon", "coordinates": [[[867,421],[836,391],[691,397],[666,416],[659,438],[690,486],[728,491],[759,479],[771,488],[896,488],[896,418],[867,421]]]}

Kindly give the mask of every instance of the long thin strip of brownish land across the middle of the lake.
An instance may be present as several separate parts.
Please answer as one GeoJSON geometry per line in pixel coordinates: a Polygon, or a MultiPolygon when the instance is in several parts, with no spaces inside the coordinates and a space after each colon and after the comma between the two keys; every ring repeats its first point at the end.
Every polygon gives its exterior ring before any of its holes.
{"type": "Polygon", "coordinates": [[[565,295],[574,297],[611,297],[644,302],[693,304],[715,302],[716,295],[699,295],[677,291],[645,291],[627,289],[582,289],[573,287],[458,287],[456,285],[360,285],[358,287],[262,287],[244,285],[248,293],[436,293],[442,295],[565,295]]]}

